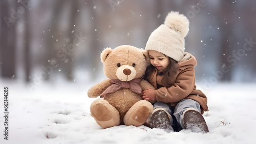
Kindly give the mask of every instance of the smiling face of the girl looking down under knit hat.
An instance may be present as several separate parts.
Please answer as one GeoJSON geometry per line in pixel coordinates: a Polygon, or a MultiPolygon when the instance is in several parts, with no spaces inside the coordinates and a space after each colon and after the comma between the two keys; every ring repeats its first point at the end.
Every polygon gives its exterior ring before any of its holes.
{"type": "Polygon", "coordinates": [[[169,65],[169,59],[163,53],[155,50],[148,50],[148,54],[150,55],[150,63],[158,70],[163,70],[169,65]]]}

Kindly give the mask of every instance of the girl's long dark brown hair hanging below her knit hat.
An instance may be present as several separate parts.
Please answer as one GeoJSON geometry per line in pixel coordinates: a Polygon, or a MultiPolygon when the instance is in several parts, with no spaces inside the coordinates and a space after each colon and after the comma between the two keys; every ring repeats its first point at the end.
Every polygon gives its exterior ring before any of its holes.
{"type": "MultiPolygon", "coordinates": [[[[165,55],[165,54],[164,54],[165,55]]],[[[163,71],[163,79],[162,79],[162,84],[163,87],[171,87],[173,83],[171,83],[172,81],[170,81],[170,79],[174,78],[175,75],[177,74],[178,70],[179,70],[179,64],[172,59],[171,57],[165,55],[166,57],[168,57],[169,60],[169,65],[165,68],[165,71],[163,71]]],[[[150,80],[150,73],[155,72],[155,67],[153,65],[150,65],[146,68],[146,72],[145,72],[145,79],[146,80],[150,80]]]]}

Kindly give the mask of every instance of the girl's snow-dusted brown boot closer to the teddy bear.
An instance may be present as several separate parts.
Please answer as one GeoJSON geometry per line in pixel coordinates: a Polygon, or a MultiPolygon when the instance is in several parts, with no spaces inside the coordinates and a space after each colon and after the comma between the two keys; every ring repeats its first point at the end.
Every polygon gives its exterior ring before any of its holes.
{"type": "Polygon", "coordinates": [[[170,124],[170,114],[163,108],[156,108],[150,116],[149,127],[160,129],[173,129],[170,124]]]}

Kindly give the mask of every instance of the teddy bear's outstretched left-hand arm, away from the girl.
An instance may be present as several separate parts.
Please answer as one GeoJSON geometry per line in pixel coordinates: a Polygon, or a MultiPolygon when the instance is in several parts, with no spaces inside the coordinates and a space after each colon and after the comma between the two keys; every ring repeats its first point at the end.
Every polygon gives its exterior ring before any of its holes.
{"type": "Polygon", "coordinates": [[[100,96],[102,92],[104,92],[111,85],[110,79],[105,79],[97,84],[95,84],[92,88],[90,88],[87,92],[89,98],[96,98],[100,96]]]}

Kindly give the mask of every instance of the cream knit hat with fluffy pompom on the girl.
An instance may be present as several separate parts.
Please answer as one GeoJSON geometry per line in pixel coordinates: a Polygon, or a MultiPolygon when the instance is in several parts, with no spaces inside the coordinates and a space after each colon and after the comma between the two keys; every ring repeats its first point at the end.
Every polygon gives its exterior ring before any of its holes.
{"type": "Polygon", "coordinates": [[[179,12],[170,12],[148,38],[146,50],[156,50],[179,62],[184,57],[184,38],[189,31],[189,21],[179,12]]]}

